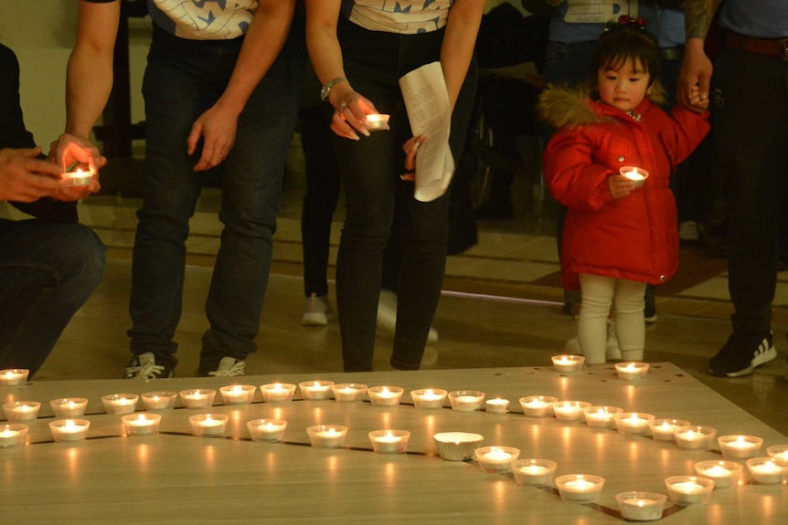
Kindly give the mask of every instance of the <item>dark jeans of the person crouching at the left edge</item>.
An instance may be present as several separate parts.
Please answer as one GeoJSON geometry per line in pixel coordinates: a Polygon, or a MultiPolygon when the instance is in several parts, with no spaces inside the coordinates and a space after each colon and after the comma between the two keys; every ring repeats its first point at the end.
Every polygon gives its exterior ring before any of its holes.
{"type": "Polygon", "coordinates": [[[101,282],[105,252],[87,226],[0,220],[0,369],[37,372],[101,282]]]}

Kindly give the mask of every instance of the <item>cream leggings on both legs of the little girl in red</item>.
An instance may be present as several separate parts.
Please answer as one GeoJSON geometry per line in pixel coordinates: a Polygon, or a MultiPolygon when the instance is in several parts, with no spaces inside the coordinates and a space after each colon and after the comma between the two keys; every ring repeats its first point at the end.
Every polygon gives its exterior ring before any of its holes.
{"type": "Polygon", "coordinates": [[[645,283],[580,274],[582,303],[578,320],[580,351],[590,364],[605,362],[607,318],[614,307],[615,335],[623,361],[642,361],[645,283]]]}

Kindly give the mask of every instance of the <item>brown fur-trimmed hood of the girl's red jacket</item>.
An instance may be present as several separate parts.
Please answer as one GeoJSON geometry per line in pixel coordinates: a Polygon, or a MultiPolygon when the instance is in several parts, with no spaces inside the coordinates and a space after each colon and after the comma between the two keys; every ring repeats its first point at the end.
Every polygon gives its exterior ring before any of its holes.
{"type": "MultiPolygon", "coordinates": [[[[566,128],[610,121],[612,116],[620,111],[594,102],[592,95],[595,93],[588,84],[578,88],[550,85],[539,96],[537,106],[539,119],[554,128],[566,128]]],[[[666,102],[665,89],[657,80],[649,89],[646,99],[634,109],[634,114],[648,110],[650,103],[665,106],[666,102]]]]}

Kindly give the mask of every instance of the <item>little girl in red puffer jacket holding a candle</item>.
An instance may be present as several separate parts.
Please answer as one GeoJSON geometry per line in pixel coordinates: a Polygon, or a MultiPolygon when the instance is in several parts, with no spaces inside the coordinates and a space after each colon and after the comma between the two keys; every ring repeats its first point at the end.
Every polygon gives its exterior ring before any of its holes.
{"type": "Polygon", "coordinates": [[[578,339],[591,364],[605,362],[611,305],[623,361],[643,359],[645,285],[666,282],[678,267],[668,183],[708,132],[708,112],[661,110],[659,67],[654,35],[622,17],[600,38],[587,85],[549,87],[539,102],[559,130],[544,152],[545,181],[569,209],[561,270],[565,289],[580,288],[578,339]],[[648,173],[642,185],[622,174],[632,167],[648,173]]]}

